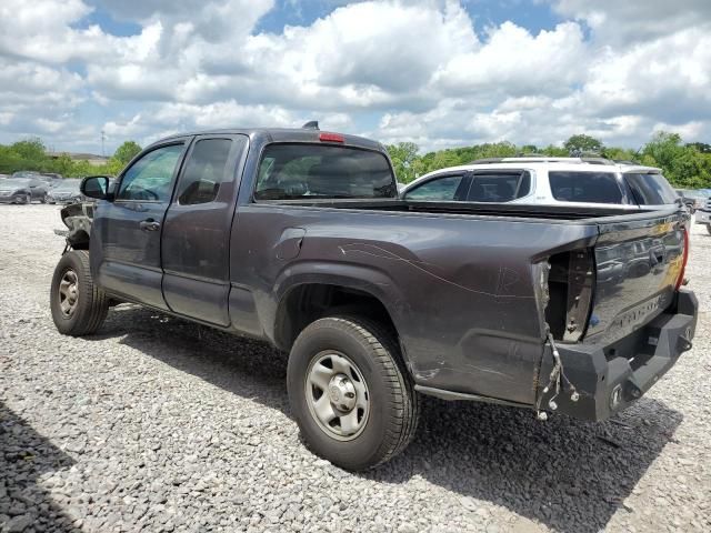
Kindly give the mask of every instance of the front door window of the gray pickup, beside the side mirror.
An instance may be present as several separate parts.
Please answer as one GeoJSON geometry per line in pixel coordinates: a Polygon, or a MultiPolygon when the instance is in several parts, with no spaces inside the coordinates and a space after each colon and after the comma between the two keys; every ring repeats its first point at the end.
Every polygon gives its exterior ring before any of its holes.
{"type": "Polygon", "coordinates": [[[182,148],[182,143],[157,148],[139,159],[123,174],[117,200],[169,201],[182,148]]]}

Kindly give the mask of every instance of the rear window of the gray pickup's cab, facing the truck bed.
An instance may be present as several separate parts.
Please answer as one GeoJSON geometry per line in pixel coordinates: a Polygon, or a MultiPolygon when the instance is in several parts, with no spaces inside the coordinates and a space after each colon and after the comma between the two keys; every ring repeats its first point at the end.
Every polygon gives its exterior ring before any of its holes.
{"type": "Polygon", "coordinates": [[[380,152],[320,144],[270,144],[264,150],[256,200],[395,198],[388,159],[380,152]]]}

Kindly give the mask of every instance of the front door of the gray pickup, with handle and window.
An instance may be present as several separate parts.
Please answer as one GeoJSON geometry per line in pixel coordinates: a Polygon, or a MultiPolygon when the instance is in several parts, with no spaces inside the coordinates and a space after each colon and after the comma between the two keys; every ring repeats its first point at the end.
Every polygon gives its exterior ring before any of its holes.
{"type": "Polygon", "coordinates": [[[108,292],[168,309],[161,292],[160,239],[190,138],[152,147],[127,168],[112,202],[100,202],[90,241],[91,270],[108,292]]]}

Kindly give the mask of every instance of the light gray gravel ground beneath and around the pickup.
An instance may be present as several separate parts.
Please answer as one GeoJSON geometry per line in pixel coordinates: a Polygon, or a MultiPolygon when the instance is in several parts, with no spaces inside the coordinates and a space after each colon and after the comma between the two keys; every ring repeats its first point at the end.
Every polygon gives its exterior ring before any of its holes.
{"type": "Polygon", "coordinates": [[[0,205],[0,530],[710,531],[711,235],[695,348],[614,421],[425,399],[413,444],[353,475],[310,454],[286,358],[137,306],[54,331],[48,205],[0,205]]]}

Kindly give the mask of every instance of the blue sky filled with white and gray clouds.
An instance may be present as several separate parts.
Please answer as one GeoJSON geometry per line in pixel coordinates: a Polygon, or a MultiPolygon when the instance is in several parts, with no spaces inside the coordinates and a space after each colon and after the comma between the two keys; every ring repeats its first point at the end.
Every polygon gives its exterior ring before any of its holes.
{"type": "Polygon", "coordinates": [[[438,150],[711,140],[710,0],[2,0],[0,143],[300,127],[438,150]]]}

